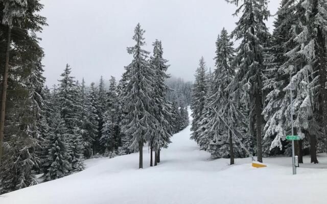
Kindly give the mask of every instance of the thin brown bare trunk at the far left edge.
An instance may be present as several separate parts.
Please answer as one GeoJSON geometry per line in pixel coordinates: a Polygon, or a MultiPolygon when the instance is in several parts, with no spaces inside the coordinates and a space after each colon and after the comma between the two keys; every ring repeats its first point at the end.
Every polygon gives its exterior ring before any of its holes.
{"type": "Polygon", "coordinates": [[[7,100],[7,87],[8,87],[8,72],[9,72],[9,51],[11,41],[11,28],[8,27],[8,38],[6,48],[6,63],[4,69],[4,78],[1,94],[1,112],[0,112],[0,166],[2,163],[3,155],[3,142],[4,142],[4,129],[5,129],[5,114],[6,114],[6,100],[7,100]]]}

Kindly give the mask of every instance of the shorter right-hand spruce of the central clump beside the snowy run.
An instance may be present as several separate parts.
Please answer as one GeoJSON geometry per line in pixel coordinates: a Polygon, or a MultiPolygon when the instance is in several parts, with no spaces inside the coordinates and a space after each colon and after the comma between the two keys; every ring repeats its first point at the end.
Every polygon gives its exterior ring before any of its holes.
{"type": "Polygon", "coordinates": [[[162,43],[156,40],[153,44],[153,56],[150,60],[150,66],[154,70],[154,102],[155,110],[152,113],[156,120],[156,129],[153,135],[149,138],[150,150],[151,150],[151,161],[152,166],[152,150],[157,152],[157,157],[154,158],[154,164],[160,162],[160,148],[167,148],[171,142],[170,137],[172,136],[172,126],[169,123],[171,117],[171,104],[169,103],[166,93],[168,86],[165,84],[165,80],[169,78],[166,71],[169,67],[167,60],[162,57],[164,51],[162,49],[162,43]]]}

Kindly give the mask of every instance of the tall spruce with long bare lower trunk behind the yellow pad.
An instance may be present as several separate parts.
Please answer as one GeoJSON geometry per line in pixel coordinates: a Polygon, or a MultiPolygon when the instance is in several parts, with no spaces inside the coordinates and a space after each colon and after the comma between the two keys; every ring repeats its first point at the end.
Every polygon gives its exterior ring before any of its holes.
{"type": "MultiPolygon", "coordinates": [[[[237,73],[234,86],[237,89],[246,87],[248,92],[248,107],[250,108],[250,121],[255,121],[256,152],[258,161],[262,162],[262,109],[263,109],[263,70],[264,47],[269,36],[265,21],[270,16],[267,10],[267,0],[227,0],[229,3],[240,6],[234,15],[242,13],[237,27],[231,33],[241,44],[236,49],[235,63],[237,73]],[[241,5],[239,5],[241,3],[241,5]]],[[[254,125],[250,125],[254,126],[254,125]]],[[[251,131],[252,132],[252,131],[251,131]]]]}

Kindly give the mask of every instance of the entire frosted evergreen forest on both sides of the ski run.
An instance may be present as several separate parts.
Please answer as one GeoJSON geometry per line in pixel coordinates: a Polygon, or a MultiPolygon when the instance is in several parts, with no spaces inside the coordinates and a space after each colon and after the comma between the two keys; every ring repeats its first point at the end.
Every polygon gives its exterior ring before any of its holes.
{"type": "Polygon", "coordinates": [[[172,135],[189,125],[188,106],[191,139],[213,159],[234,164],[249,156],[245,149],[259,162],[290,155],[292,119],[299,162],[310,155],[318,163],[327,148],[327,1],[283,0],[272,33],[268,0],[226,1],[237,7],[236,28],[221,31],[215,69],[202,57],[194,83],[168,74],[160,40],[144,49],[138,23],[119,80],[86,84],[67,64],[48,87],[37,36],[47,26],[43,5],[0,0],[0,194],[81,171],[89,158],[138,152],[143,168],[146,145],[147,164],[156,166],[172,135]]]}

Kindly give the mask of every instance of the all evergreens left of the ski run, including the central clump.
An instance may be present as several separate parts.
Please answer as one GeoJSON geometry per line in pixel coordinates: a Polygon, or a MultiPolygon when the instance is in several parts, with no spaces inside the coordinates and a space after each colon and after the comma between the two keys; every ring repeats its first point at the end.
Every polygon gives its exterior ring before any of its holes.
{"type": "Polygon", "coordinates": [[[130,154],[145,143],[155,152],[156,165],[171,135],[188,125],[186,108],[166,96],[169,66],[161,42],[153,43],[148,57],[137,25],[136,44],[127,49],[134,60],[119,82],[111,77],[108,87],[101,78],[98,86],[86,86],[67,65],[59,84],[48,88],[36,35],[46,25],[38,15],[42,8],[37,0],[0,1],[1,88],[7,96],[5,115],[1,112],[0,194],[37,184],[35,174],[55,180],[83,170],[84,159],[130,154]]]}

